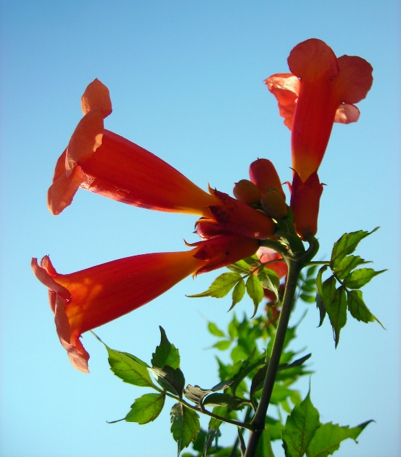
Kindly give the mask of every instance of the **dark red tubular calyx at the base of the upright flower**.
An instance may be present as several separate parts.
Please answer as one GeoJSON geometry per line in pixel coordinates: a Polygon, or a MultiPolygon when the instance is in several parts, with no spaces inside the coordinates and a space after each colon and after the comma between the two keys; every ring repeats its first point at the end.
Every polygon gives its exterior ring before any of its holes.
{"type": "Polygon", "coordinates": [[[305,182],[294,172],[291,190],[291,209],[294,213],[295,230],[305,241],[308,236],[316,235],[318,230],[318,212],[323,184],[318,174],[312,173],[305,182]]]}

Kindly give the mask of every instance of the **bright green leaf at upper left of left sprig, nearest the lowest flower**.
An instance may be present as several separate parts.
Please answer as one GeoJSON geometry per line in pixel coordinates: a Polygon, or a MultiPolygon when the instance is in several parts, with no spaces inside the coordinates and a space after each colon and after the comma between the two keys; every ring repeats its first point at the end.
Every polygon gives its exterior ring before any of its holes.
{"type": "Polygon", "coordinates": [[[133,386],[155,388],[144,361],[134,355],[113,350],[109,346],[106,348],[109,353],[109,365],[114,375],[133,386]]]}

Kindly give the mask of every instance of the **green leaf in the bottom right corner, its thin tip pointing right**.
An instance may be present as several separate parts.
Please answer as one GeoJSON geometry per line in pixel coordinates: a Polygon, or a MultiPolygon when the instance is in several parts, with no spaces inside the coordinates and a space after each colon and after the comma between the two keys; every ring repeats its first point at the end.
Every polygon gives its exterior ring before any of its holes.
{"type": "Polygon", "coordinates": [[[356,427],[349,428],[340,427],[338,424],[332,424],[331,422],[321,425],[309,447],[307,448],[307,457],[327,457],[334,454],[340,447],[341,441],[347,438],[352,438],[356,441],[358,435],[371,421],[364,422],[356,427]]]}

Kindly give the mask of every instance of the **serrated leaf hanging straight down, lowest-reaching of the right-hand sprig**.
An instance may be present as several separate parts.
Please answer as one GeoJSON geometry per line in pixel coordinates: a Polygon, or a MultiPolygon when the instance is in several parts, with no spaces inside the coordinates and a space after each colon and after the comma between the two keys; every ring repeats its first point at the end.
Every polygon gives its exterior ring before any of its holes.
{"type": "Polygon", "coordinates": [[[323,302],[334,331],[336,347],[340,340],[340,330],[347,323],[347,291],[340,286],[336,289],[336,279],[332,276],[323,282],[323,302]]]}

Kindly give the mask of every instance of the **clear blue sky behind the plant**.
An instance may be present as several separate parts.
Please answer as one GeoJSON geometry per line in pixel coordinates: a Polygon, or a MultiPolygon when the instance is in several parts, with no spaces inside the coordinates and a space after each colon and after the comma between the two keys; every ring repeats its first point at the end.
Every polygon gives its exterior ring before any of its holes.
{"type": "MultiPolygon", "coordinates": [[[[90,375],[58,343],[47,291],[30,258],[61,273],[125,256],[183,249],[195,217],[133,208],[79,190],[60,216],[46,208],[54,164],[94,78],[110,89],[106,128],[159,155],[199,186],[231,192],[257,157],[290,179],[290,131],[263,79],[286,72],[292,47],[321,38],[374,68],[360,121],[336,125],[319,175],[327,184],[321,258],[344,232],[382,228],[359,254],[389,268],[366,287],[387,328],[349,320],[334,349],[310,306],[298,349],[312,352],[312,401],[323,421],[369,425],[339,457],[400,455],[400,12],[397,0],[14,1],[1,14],[1,423],[4,457],[169,457],[169,409],[150,425],[117,423],[145,393],[109,371],[84,335],[90,375]]],[[[150,361],[162,325],[188,383],[217,382],[206,321],[224,327],[228,300],[191,300],[217,274],[188,278],[151,304],[98,328],[109,346],[150,361]]],[[[306,305],[305,305],[306,306],[306,305]]],[[[299,306],[299,313],[304,305],[299,306]]],[[[244,300],[237,314],[252,312],[244,300]]],[[[296,318],[296,317],[295,317],[296,318]]],[[[307,381],[300,384],[303,395],[307,381]]],[[[229,426],[224,430],[228,431],[229,426]]],[[[232,436],[228,433],[228,436],[232,436]]],[[[228,439],[230,443],[231,438],[228,439]]],[[[278,448],[276,448],[278,449],[278,448]]],[[[277,457],[283,451],[277,451],[277,457]]]]}

